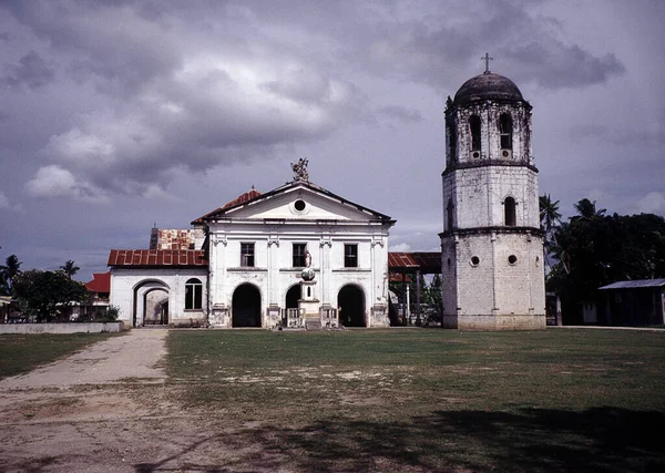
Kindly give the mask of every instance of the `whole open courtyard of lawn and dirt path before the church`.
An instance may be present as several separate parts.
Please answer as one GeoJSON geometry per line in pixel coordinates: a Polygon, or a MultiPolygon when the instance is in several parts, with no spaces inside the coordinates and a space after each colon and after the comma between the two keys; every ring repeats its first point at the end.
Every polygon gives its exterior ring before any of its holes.
{"type": "Polygon", "coordinates": [[[0,471],[662,471],[663,337],[132,330],[0,380],[0,471]]]}

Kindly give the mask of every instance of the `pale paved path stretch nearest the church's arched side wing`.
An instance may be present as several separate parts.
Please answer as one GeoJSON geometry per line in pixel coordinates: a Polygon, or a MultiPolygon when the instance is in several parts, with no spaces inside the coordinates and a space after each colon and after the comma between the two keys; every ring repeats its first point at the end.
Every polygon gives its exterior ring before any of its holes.
{"type": "Polygon", "coordinates": [[[163,380],[164,370],[155,364],[166,354],[167,330],[132,330],[123,337],[89,347],[64,360],[0,381],[0,392],[24,388],[68,388],[75,384],[103,384],[126,378],[163,380]]]}

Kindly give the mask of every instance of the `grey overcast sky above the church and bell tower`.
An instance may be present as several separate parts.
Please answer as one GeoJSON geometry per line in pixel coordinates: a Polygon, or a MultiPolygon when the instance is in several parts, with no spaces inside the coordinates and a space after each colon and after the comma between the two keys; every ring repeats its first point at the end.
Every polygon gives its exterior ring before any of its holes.
{"type": "Polygon", "coordinates": [[[438,250],[443,109],[494,60],[565,215],[665,215],[665,1],[3,1],[0,259],[81,280],[150,229],[311,182],[438,250]]]}

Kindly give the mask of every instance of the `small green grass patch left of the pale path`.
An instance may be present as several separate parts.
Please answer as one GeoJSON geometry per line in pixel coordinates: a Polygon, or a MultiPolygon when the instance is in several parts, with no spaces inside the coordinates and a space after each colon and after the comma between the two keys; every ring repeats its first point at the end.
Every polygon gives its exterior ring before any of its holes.
{"type": "Polygon", "coordinates": [[[0,335],[0,379],[28,372],[109,337],[112,335],[0,335]]]}

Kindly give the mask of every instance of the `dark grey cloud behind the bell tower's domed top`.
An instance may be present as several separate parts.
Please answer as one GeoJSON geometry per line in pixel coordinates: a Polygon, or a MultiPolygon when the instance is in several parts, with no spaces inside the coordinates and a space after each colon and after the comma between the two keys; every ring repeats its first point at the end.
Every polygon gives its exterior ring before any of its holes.
{"type": "Polygon", "coordinates": [[[437,89],[449,86],[454,65],[468,64],[482,72],[479,52],[498,61],[492,70],[505,70],[520,83],[535,81],[548,89],[584,88],[625,73],[613,53],[595,55],[582,44],[561,39],[561,22],[531,16],[519,2],[479,2],[481,8],[449,21],[444,10],[436,21],[383,21],[374,27],[366,55],[383,72],[437,89]],[[452,68],[451,68],[452,66],[452,68]]]}

